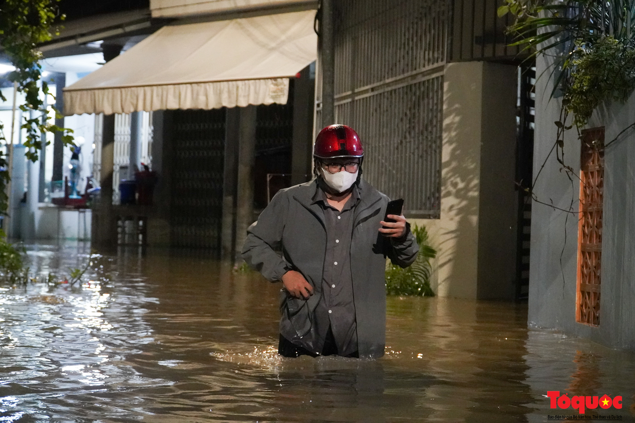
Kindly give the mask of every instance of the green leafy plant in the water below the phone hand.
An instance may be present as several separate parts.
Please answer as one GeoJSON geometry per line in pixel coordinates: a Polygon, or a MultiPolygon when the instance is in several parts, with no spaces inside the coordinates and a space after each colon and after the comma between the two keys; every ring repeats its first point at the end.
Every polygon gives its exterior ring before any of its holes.
{"type": "Polygon", "coordinates": [[[386,294],[433,297],[434,292],[430,287],[430,259],[436,257],[436,250],[428,244],[428,231],[425,230],[425,226],[415,224],[411,230],[417,238],[419,254],[415,263],[405,269],[390,261],[386,262],[386,294]]]}

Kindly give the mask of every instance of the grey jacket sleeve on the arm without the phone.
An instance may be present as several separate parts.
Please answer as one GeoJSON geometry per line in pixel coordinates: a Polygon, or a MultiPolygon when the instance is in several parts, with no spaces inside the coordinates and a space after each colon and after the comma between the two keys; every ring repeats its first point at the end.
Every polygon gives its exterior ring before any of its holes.
{"type": "Polygon", "coordinates": [[[276,250],[281,250],[284,222],[289,209],[286,192],[274,195],[271,202],[260,213],[247,230],[244,240],[242,257],[253,269],[262,273],[267,280],[277,282],[282,280],[289,269],[288,263],[276,250]]]}

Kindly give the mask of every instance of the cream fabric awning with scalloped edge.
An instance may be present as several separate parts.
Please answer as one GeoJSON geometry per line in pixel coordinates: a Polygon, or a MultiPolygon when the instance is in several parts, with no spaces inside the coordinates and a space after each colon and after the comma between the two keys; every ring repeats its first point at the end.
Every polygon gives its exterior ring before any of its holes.
{"type": "Polygon", "coordinates": [[[64,89],[64,114],[285,104],[315,11],[166,26],[64,89]]]}

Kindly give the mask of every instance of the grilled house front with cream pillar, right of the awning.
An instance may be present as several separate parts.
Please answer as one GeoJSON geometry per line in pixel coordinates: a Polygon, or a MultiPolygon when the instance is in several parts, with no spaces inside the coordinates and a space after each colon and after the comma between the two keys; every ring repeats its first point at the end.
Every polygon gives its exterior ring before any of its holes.
{"type": "MultiPolygon", "coordinates": [[[[531,206],[517,182],[531,180],[531,68],[519,72],[523,57],[497,6],[334,7],[335,121],[364,140],[364,177],[404,198],[406,217],[427,227],[440,296],[527,296],[531,206]]],[[[325,62],[319,56],[316,131],[325,62]]]]}

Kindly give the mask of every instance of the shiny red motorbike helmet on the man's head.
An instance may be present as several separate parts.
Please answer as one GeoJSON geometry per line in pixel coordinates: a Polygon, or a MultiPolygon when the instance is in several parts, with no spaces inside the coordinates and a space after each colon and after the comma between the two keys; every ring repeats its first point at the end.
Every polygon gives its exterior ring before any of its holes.
{"type": "Polygon", "coordinates": [[[364,157],[359,135],[350,126],[331,125],[319,131],[313,148],[314,157],[364,157]]]}

